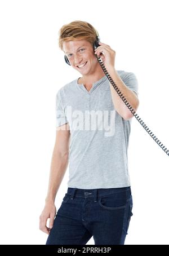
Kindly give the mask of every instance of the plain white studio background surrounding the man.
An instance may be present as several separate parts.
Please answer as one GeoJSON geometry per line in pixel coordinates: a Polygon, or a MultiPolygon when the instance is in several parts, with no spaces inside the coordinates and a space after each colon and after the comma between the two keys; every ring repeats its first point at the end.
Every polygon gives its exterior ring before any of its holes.
{"type": "MultiPolygon", "coordinates": [[[[91,23],[115,50],[115,69],[139,81],[137,114],[169,148],[168,1],[1,1],[1,244],[45,244],[45,205],[55,142],[55,95],[81,76],[64,61],[59,29],[91,23]]],[[[133,117],[128,166],[134,200],[126,244],[169,244],[167,154],[133,117]]],[[[68,170],[56,196],[66,193],[68,170]]],[[[93,238],[87,244],[94,244],[93,238]]]]}

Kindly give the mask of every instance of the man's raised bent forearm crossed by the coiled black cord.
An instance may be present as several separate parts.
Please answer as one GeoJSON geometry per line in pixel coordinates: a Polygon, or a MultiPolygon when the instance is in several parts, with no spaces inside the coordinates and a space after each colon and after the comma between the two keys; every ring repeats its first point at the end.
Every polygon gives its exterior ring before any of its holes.
{"type": "MultiPolygon", "coordinates": [[[[117,85],[118,89],[122,92],[124,98],[126,98],[127,102],[134,108],[134,111],[136,112],[138,106],[139,106],[139,99],[135,95],[133,91],[128,89],[128,87],[124,84],[121,77],[119,77],[117,71],[115,69],[110,69],[109,71],[110,76],[112,77],[115,85],[117,85]]],[[[110,91],[112,95],[112,100],[114,104],[115,110],[120,114],[124,119],[128,119],[133,117],[133,114],[131,113],[130,109],[126,106],[126,104],[123,102],[123,100],[120,98],[120,96],[117,94],[117,92],[114,90],[112,84],[110,84],[110,91]]],[[[124,99],[123,98],[123,99],[124,99]]]]}

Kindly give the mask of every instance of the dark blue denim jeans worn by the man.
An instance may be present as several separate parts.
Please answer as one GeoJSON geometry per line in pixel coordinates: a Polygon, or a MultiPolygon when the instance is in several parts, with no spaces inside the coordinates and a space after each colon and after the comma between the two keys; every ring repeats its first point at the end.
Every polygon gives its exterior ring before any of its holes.
{"type": "Polygon", "coordinates": [[[46,245],[123,245],[132,216],[130,187],[68,187],[46,245]]]}

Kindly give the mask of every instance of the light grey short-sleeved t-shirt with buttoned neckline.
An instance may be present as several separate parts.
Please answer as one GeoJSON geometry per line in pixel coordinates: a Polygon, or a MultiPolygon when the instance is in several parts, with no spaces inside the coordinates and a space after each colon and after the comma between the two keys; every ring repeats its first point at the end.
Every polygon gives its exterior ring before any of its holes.
{"type": "MultiPolygon", "coordinates": [[[[135,74],[117,72],[138,96],[135,74]]],[[[67,83],[56,94],[56,127],[67,122],[70,126],[68,187],[131,186],[127,149],[134,117],[124,120],[115,111],[106,76],[93,83],[90,91],[77,81],[67,83]]]]}

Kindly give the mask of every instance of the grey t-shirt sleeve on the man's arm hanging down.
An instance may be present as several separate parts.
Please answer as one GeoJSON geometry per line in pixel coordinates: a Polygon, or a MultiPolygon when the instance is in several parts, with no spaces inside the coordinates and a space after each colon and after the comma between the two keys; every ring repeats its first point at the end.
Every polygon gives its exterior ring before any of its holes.
{"type": "Polygon", "coordinates": [[[67,123],[67,118],[66,114],[64,112],[63,108],[63,99],[61,99],[61,94],[60,90],[57,92],[56,97],[55,97],[55,102],[56,102],[56,127],[59,127],[61,125],[64,125],[67,123]]]}

